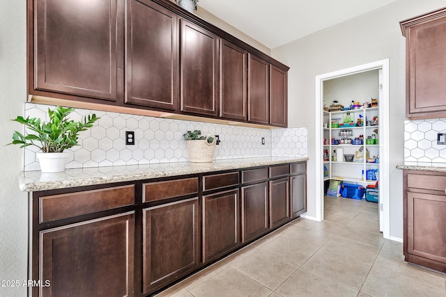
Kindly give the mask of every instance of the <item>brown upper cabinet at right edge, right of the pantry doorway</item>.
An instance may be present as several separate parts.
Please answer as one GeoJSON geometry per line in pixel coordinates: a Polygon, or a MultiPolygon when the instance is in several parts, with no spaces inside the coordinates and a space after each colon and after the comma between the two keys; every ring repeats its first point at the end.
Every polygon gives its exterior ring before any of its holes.
{"type": "Polygon", "coordinates": [[[406,117],[446,117],[446,8],[400,22],[406,36],[406,117]]]}

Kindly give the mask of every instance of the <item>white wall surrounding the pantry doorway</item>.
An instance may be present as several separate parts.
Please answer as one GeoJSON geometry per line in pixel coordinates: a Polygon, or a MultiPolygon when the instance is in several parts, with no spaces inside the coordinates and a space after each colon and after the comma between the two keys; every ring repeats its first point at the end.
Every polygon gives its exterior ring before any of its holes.
{"type": "Polygon", "coordinates": [[[405,48],[399,22],[445,6],[444,0],[401,0],[300,40],[272,49],[289,71],[289,127],[308,127],[308,213],[314,197],[315,77],[356,65],[390,59],[390,236],[403,236],[402,172],[405,120],[405,48]]]}

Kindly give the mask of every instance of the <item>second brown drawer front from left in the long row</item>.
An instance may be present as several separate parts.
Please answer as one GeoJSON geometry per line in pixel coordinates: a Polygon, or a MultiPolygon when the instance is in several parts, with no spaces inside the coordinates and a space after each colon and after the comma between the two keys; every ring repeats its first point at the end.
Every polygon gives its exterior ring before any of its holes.
{"type": "Polygon", "coordinates": [[[198,177],[143,184],[143,202],[198,193],[198,177]]]}

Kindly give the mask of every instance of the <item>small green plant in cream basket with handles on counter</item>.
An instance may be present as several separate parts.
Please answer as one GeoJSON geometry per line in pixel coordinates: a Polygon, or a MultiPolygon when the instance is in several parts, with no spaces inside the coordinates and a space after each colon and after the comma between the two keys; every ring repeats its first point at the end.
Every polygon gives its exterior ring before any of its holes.
{"type": "Polygon", "coordinates": [[[215,136],[201,135],[200,130],[187,131],[183,134],[189,150],[189,161],[193,163],[212,162],[215,152],[215,136]]]}

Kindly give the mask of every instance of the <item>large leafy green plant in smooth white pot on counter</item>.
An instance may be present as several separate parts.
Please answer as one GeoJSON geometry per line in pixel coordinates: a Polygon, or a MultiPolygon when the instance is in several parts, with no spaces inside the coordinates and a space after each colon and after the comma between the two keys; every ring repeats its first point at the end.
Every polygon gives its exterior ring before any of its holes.
{"type": "Polygon", "coordinates": [[[63,152],[78,145],[77,138],[80,131],[86,131],[93,127],[93,123],[99,118],[95,113],[85,116],[80,122],[68,119],[73,108],[56,106],[56,109],[48,109],[49,121],[40,118],[23,118],[17,116],[13,121],[20,122],[26,127],[24,136],[19,131],[13,134],[13,142],[8,145],[20,145],[22,147],[38,147],[37,153],[40,169],[44,173],[61,172],[65,170],[68,153],[63,152]]]}

